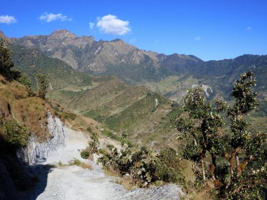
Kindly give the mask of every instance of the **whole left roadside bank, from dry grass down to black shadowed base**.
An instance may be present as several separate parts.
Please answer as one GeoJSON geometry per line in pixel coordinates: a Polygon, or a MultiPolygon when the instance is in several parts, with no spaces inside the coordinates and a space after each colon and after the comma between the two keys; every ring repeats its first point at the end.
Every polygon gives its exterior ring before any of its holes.
{"type": "Polygon", "coordinates": [[[0,199],[16,200],[18,193],[30,190],[36,177],[26,168],[16,151],[27,144],[30,135],[47,141],[47,109],[37,97],[28,97],[26,88],[0,74],[0,199]]]}

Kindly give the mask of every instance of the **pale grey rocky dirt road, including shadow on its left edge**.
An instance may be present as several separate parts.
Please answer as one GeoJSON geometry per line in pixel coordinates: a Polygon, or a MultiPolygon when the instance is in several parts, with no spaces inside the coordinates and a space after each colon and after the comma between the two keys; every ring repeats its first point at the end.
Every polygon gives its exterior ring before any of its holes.
{"type": "Polygon", "coordinates": [[[82,132],[65,132],[65,146],[53,152],[42,163],[35,164],[34,171],[39,179],[30,200],[164,200],[180,199],[178,185],[169,184],[149,189],[126,190],[115,183],[116,177],[107,176],[94,162],[80,157],[87,146],[88,137],[82,132]],[[48,167],[61,161],[68,163],[73,158],[92,165],[92,170],[77,166],[48,167]]]}

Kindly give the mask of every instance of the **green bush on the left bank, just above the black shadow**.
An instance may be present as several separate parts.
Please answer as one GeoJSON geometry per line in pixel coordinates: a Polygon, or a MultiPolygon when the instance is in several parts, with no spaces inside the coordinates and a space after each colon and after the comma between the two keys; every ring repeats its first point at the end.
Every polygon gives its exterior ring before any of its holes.
{"type": "Polygon", "coordinates": [[[4,136],[7,143],[16,147],[26,146],[30,137],[29,129],[19,125],[15,119],[0,119],[0,134],[4,136]]]}

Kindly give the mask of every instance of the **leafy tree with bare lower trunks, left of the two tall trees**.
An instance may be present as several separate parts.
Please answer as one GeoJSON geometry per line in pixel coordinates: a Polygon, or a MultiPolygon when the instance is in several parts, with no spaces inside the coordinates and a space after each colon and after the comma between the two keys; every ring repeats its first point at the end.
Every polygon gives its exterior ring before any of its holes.
{"type": "Polygon", "coordinates": [[[206,174],[204,160],[206,152],[212,155],[213,166],[212,177],[215,180],[214,169],[215,159],[218,154],[223,153],[224,134],[222,126],[225,124],[223,117],[208,102],[201,87],[188,89],[184,97],[183,109],[185,115],[181,115],[176,120],[176,128],[182,133],[179,139],[186,140],[183,146],[183,156],[186,159],[193,160],[196,168],[200,162],[202,172],[202,183],[205,185],[206,174]]]}

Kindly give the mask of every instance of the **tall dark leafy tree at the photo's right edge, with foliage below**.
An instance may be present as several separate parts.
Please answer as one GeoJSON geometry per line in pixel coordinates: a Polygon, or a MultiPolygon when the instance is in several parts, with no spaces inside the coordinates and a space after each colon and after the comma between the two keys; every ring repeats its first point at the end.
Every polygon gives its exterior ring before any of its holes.
{"type": "Polygon", "coordinates": [[[241,74],[240,80],[237,80],[233,86],[231,95],[235,102],[233,107],[227,109],[232,132],[229,142],[230,153],[224,154],[225,159],[230,163],[229,193],[232,196],[244,194],[243,197],[252,199],[256,198],[256,194],[258,194],[257,198],[260,197],[259,185],[264,185],[263,182],[266,182],[258,174],[267,173],[267,133],[249,132],[250,123],[245,119],[245,116],[249,115],[257,105],[257,93],[251,88],[257,83],[253,75],[252,71],[241,74]],[[242,153],[245,155],[241,158],[242,153]]]}

